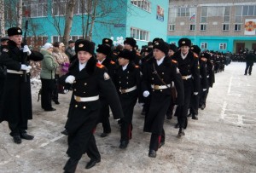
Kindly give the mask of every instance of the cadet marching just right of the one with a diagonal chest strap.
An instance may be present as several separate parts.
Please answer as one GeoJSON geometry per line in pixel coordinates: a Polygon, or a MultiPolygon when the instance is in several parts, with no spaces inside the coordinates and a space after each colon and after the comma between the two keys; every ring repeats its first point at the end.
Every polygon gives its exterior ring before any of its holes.
{"type": "Polygon", "coordinates": [[[198,95],[200,91],[200,73],[198,56],[190,51],[191,40],[189,38],[181,38],[178,40],[178,47],[180,48],[172,59],[177,61],[178,69],[183,79],[184,86],[184,105],[177,106],[175,115],[177,116],[178,134],[177,136],[184,136],[184,129],[188,124],[188,111],[191,95],[198,95]]]}

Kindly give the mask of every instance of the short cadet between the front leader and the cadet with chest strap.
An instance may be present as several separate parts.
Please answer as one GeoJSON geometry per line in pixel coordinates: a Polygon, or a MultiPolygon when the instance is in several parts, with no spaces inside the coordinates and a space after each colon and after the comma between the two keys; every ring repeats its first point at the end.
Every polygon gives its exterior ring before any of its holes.
{"type": "Polygon", "coordinates": [[[119,68],[115,74],[116,88],[119,89],[119,99],[124,112],[120,121],[121,139],[119,148],[126,148],[132,136],[133,109],[141,90],[139,66],[133,63],[131,50],[123,49],[119,52],[119,68]]]}

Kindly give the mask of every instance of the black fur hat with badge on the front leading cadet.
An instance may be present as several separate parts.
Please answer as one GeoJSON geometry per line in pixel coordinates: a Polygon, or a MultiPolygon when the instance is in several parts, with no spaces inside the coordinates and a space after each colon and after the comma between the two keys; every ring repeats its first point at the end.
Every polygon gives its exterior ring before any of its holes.
{"type": "Polygon", "coordinates": [[[75,42],[75,52],[78,53],[79,51],[86,51],[89,52],[91,55],[94,55],[94,48],[95,44],[84,39],[78,39],[75,42]]]}

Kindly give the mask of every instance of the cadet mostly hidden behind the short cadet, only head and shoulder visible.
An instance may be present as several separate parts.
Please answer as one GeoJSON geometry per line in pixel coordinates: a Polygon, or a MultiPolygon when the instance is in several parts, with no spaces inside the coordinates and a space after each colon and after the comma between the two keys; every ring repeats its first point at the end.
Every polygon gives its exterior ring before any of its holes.
{"type": "Polygon", "coordinates": [[[137,53],[136,51],[136,40],[133,37],[125,37],[125,41],[124,41],[124,46],[125,49],[128,49],[131,51],[131,55],[133,56],[133,62],[137,65],[140,66],[142,64],[142,55],[140,55],[139,53],[137,53]]]}

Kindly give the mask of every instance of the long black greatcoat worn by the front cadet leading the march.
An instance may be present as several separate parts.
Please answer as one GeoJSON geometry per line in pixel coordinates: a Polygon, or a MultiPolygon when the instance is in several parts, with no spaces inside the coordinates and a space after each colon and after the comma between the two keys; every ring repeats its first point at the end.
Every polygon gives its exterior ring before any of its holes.
{"type": "MultiPolygon", "coordinates": [[[[80,159],[85,152],[90,158],[93,157],[89,153],[91,151],[90,147],[96,147],[92,133],[96,127],[101,108],[100,100],[78,102],[74,100],[74,95],[91,97],[100,95],[101,92],[112,109],[113,118],[118,119],[124,117],[117,91],[107,72],[105,66],[96,64],[96,60],[91,57],[81,71],[79,71],[79,61],[73,61],[69,72],[60,78],[63,84],[69,75],[75,77],[66,124],[68,131],[67,154],[73,159],[80,159]]],[[[98,152],[96,153],[99,155],[98,152]]]]}

